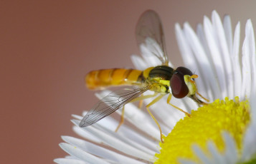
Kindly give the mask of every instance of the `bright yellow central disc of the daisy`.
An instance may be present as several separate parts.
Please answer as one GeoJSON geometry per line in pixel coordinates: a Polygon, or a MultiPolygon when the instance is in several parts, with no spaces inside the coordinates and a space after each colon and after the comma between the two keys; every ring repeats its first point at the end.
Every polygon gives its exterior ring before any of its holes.
{"type": "Polygon", "coordinates": [[[210,155],[207,142],[212,141],[219,152],[225,150],[222,132],[228,132],[234,138],[237,151],[242,148],[242,137],[250,121],[250,105],[248,101],[240,101],[238,97],[233,100],[217,99],[191,112],[176,123],[171,133],[164,137],[160,143],[161,150],[156,154],[158,163],[179,163],[184,158],[196,163],[199,158],[192,150],[192,145],[198,145],[206,155],[210,155]]]}

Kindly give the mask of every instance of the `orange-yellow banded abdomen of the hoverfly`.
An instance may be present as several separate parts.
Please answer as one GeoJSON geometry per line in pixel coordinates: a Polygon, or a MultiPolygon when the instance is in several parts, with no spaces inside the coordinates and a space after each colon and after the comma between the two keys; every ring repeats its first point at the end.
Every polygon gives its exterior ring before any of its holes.
{"type": "Polygon", "coordinates": [[[143,72],[136,69],[101,69],[85,76],[87,88],[100,89],[108,86],[129,86],[141,82],[143,72]]]}

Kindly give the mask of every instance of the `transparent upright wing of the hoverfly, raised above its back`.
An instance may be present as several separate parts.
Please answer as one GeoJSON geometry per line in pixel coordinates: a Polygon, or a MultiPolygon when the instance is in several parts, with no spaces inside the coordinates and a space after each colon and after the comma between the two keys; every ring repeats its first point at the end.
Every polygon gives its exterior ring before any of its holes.
{"type": "Polygon", "coordinates": [[[169,60],[166,53],[163,28],[161,20],[155,11],[148,10],[141,15],[136,26],[136,39],[139,47],[142,43],[150,43],[151,46],[156,49],[156,51],[152,51],[152,53],[163,65],[168,65],[169,60]],[[154,43],[158,44],[158,47],[160,48],[159,51],[154,43]]]}

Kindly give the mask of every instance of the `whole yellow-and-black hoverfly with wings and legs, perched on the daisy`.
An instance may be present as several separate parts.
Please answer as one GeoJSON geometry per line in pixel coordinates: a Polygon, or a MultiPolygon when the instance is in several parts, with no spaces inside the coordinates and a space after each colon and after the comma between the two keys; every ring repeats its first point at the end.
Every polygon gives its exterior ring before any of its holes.
{"type": "MultiPolygon", "coordinates": [[[[184,112],[187,116],[190,116],[186,111],[183,111],[181,108],[170,103],[171,96],[174,96],[175,98],[184,98],[188,96],[199,105],[206,103],[196,97],[197,94],[204,98],[197,92],[194,78],[197,78],[198,76],[192,73],[188,68],[178,67],[174,69],[169,66],[161,20],[155,11],[148,10],[141,15],[136,26],[136,39],[138,46],[146,41],[158,44],[159,51],[153,52],[153,54],[161,61],[161,65],[146,68],[144,71],[125,68],[90,71],[90,73],[85,76],[87,88],[103,89],[109,86],[136,86],[136,88],[121,88],[118,92],[110,93],[108,96],[105,96],[87,112],[84,118],[82,118],[80,127],[92,125],[119,108],[123,108],[124,111],[126,103],[141,101],[149,97],[156,97],[146,106],[146,108],[158,125],[161,133],[161,141],[163,142],[161,127],[153,117],[151,111],[149,111],[149,106],[156,103],[166,94],[169,94],[167,103],[179,111],[184,112]],[[154,91],[154,94],[143,96],[143,93],[148,90],[154,91]]],[[[204,100],[208,101],[206,98],[204,98],[204,100]]],[[[122,123],[123,114],[118,128],[122,123]]]]}

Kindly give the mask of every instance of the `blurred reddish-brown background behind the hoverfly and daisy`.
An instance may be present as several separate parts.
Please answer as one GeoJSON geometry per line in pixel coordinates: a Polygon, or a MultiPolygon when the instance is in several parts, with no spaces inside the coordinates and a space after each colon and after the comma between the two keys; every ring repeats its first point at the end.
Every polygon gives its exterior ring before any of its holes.
{"type": "Polygon", "coordinates": [[[93,69],[133,67],[134,29],[146,9],[161,16],[169,57],[182,66],[174,24],[193,28],[229,14],[256,23],[255,1],[0,1],[0,163],[53,163],[72,132],[71,114],[96,103],[84,85],[93,69]],[[253,3],[253,4],[252,4],[253,3]]]}

